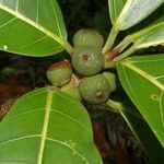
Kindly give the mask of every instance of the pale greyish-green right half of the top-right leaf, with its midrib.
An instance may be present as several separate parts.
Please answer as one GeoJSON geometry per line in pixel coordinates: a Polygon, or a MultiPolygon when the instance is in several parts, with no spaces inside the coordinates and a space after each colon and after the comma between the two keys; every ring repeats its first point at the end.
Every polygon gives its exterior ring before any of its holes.
{"type": "Polygon", "coordinates": [[[127,30],[156,10],[164,0],[128,0],[117,20],[119,31],[127,30]]]}

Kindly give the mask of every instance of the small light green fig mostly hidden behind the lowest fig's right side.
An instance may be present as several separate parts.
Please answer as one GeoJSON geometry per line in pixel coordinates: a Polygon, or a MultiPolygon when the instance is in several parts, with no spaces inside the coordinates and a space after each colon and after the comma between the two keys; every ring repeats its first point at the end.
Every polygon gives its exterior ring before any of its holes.
{"type": "Polygon", "coordinates": [[[114,92],[117,89],[116,85],[116,75],[110,72],[104,72],[103,75],[108,80],[110,85],[110,92],[114,92]]]}

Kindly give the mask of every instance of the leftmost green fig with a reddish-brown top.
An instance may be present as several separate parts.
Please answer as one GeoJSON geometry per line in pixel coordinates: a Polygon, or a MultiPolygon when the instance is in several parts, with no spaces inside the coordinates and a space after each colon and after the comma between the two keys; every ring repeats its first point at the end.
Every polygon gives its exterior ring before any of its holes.
{"type": "Polygon", "coordinates": [[[56,86],[67,84],[72,75],[71,65],[67,60],[58,61],[47,69],[47,78],[56,86]]]}

